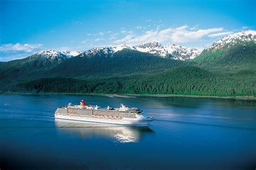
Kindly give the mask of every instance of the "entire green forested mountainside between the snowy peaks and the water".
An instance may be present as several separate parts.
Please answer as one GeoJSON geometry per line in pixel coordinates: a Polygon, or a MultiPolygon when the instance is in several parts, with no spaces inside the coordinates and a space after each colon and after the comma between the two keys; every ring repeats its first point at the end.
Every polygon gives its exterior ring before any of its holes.
{"type": "Polygon", "coordinates": [[[256,95],[256,44],[204,51],[173,60],[131,50],[63,61],[1,63],[1,91],[23,93],[256,95]]]}

